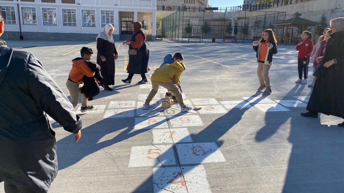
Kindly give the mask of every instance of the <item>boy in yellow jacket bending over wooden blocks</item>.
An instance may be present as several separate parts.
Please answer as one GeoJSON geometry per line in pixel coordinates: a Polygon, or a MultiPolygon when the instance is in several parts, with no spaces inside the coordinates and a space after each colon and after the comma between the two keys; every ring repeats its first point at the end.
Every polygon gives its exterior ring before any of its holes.
{"type": "Polygon", "coordinates": [[[180,75],[184,70],[184,63],[178,61],[175,61],[172,64],[165,64],[162,67],[154,70],[154,73],[151,77],[153,88],[150,91],[146,102],[143,104],[143,109],[148,109],[151,107],[149,103],[152,101],[155,94],[157,94],[159,86],[162,86],[173,93],[179,102],[181,112],[190,111],[192,108],[184,104],[182,94],[177,86],[179,84],[180,75]]]}

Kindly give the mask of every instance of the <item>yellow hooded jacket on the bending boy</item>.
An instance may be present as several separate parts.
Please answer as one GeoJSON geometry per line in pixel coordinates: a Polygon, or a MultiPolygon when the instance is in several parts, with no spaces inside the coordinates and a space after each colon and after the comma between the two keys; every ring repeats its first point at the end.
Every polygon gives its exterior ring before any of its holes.
{"type": "Polygon", "coordinates": [[[171,82],[173,79],[173,83],[178,86],[179,78],[183,71],[184,68],[179,62],[165,64],[162,67],[154,70],[151,81],[171,82]]]}

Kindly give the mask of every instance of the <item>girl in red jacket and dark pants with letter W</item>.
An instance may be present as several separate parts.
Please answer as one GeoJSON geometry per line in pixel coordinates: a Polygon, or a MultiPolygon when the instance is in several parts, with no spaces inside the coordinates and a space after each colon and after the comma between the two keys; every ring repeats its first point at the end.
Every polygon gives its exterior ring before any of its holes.
{"type": "Polygon", "coordinates": [[[309,31],[304,31],[301,34],[301,40],[298,45],[295,47],[299,51],[298,55],[298,70],[299,70],[299,79],[295,83],[307,84],[308,78],[308,65],[309,58],[313,50],[312,42],[312,33],[309,31]],[[304,79],[302,80],[302,72],[304,79]]]}

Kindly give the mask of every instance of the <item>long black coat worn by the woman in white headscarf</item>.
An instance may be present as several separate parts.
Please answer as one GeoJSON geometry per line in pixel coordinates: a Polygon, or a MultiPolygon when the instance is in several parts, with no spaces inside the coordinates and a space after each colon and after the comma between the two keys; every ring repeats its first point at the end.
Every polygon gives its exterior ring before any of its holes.
{"type": "Polygon", "coordinates": [[[115,55],[118,54],[115,44],[101,38],[97,38],[97,64],[100,66],[100,72],[103,76],[103,85],[115,85],[115,55]],[[101,57],[105,61],[101,61],[101,57]]]}

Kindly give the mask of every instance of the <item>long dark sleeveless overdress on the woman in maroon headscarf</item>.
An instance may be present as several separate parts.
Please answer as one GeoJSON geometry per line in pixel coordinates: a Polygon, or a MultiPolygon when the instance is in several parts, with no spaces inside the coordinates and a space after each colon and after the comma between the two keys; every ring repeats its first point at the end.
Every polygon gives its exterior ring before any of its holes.
{"type": "MultiPolygon", "coordinates": [[[[135,34],[133,34],[130,41],[135,42],[136,36],[139,33],[142,34],[143,32],[138,31],[135,34]]],[[[142,35],[144,37],[144,34],[142,35]]],[[[129,45],[129,49],[134,49],[134,48],[131,47],[131,45],[129,45]]],[[[144,44],[142,45],[142,47],[139,50],[137,50],[136,55],[129,55],[128,73],[131,73],[131,74],[147,73],[149,71],[148,60],[149,60],[149,50],[147,49],[146,41],[144,41],[144,44]]]]}

